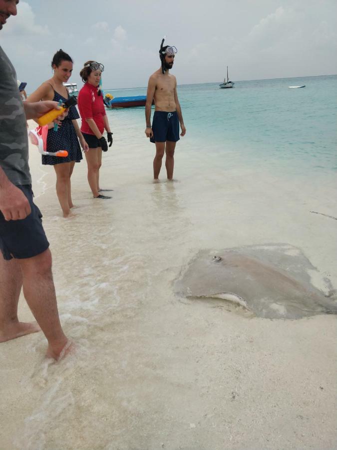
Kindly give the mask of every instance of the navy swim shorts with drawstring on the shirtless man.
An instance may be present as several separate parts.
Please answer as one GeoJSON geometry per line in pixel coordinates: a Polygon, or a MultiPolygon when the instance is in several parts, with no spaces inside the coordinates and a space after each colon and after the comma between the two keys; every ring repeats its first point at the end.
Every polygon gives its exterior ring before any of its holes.
{"type": "Polygon", "coordinates": [[[179,137],[179,119],[177,111],[154,111],[152,120],[153,136],[151,142],[177,142],[179,137]]]}

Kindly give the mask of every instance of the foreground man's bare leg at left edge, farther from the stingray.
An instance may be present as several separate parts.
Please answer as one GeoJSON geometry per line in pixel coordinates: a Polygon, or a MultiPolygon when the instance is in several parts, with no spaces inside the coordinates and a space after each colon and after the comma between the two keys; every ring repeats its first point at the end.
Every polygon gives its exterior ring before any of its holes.
{"type": "Polygon", "coordinates": [[[0,342],[40,331],[36,322],[20,322],[17,304],[22,274],[17,259],[6,261],[0,254],[0,342]]]}

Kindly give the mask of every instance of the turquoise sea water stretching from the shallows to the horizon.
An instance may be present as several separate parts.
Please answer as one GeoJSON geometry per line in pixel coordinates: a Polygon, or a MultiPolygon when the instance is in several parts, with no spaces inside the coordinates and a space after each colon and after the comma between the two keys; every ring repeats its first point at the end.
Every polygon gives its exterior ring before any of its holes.
{"type": "MultiPolygon", "coordinates": [[[[146,87],[104,91],[143,95],[146,87]]],[[[178,96],[184,139],[219,165],[257,165],[293,175],[337,170],[337,75],[236,81],[233,89],[180,85],[178,96]]],[[[144,132],[144,108],[108,113],[112,122],[127,120],[144,132]]]]}

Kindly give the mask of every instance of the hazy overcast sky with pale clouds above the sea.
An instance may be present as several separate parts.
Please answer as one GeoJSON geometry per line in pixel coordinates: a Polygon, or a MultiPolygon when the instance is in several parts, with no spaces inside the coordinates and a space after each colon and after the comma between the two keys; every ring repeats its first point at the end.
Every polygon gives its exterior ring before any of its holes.
{"type": "Polygon", "coordinates": [[[20,0],[0,45],[31,92],[62,48],[69,81],[87,59],[105,65],[103,87],[147,85],[161,38],[178,48],[178,84],[337,73],[336,0],[20,0]]]}

